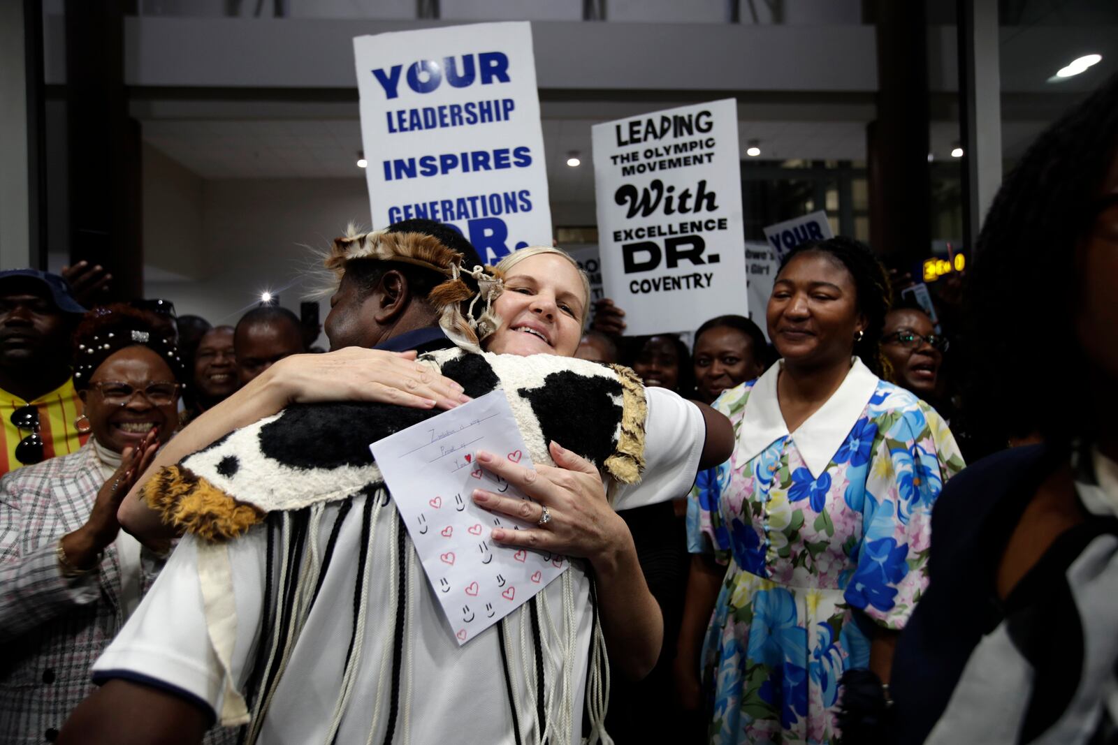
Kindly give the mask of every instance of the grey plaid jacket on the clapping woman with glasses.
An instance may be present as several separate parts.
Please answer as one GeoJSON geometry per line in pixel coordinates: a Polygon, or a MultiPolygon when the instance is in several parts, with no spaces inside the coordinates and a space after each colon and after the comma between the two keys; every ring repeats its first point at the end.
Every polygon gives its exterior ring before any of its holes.
{"type": "MultiPolygon", "coordinates": [[[[93,689],[89,667],[124,623],[120,563],[66,579],[58,539],[80,527],[104,479],[87,443],[0,479],[0,743],[54,739],[93,689]]],[[[142,553],[146,592],[162,563],[142,553]]]]}

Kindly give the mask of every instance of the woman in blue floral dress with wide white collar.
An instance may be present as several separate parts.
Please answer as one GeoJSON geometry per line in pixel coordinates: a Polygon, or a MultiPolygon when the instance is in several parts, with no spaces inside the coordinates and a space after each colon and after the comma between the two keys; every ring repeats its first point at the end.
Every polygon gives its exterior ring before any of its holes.
{"type": "Polygon", "coordinates": [[[781,361],[714,404],[737,445],[692,493],[680,638],[714,743],[832,742],[839,678],[888,680],[927,586],[931,506],[963,459],[931,407],[879,378],[888,307],[861,243],[792,251],[767,313],[781,361]]]}

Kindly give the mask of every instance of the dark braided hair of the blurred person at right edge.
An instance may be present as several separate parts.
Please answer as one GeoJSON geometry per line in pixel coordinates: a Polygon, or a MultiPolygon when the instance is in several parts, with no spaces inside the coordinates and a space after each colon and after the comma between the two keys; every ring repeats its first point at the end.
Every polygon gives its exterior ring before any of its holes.
{"type": "MultiPolygon", "coordinates": [[[[1067,112],[1030,146],[986,214],[966,278],[968,403],[983,434],[1039,432],[1065,445],[1088,433],[1089,405],[1062,394],[1083,384],[1086,359],[1076,336],[1079,270],[1074,254],[1097,216],[1097,198],[1118,156],[1118,75],[1067,112]],[[1008,360],[1040,354],[1043,389],[1008,360]]],[[[1039,360],[1026,357],[1026,365],[1039,360]]]]}

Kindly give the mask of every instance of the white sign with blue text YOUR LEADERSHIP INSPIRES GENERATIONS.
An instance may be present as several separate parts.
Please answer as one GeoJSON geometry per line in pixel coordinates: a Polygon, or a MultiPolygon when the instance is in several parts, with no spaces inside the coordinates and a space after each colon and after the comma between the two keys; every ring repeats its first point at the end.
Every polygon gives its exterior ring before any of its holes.
{"type": "Polygon", "coordinates": [[[454,226],[482,259],[551,245],[531,25],[353,39],[375,228],[454,226]]]}

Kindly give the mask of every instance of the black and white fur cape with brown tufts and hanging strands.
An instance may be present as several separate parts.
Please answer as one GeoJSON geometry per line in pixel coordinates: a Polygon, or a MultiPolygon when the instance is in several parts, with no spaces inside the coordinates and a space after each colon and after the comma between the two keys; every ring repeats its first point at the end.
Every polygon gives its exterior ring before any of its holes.
{"type": "MultiPolygon", "coordinates": [[[[472,398],[503,390],[534,462],[553,462],[547,447],[553,440],[593,461],[608,477],[607,480],[623,484],[638,480],[644,467],[646,404],[644,389],[632,371],[568,357],[475,354],[458,348],[427,353],[419,360],[461,383],[472,398]]],[[[235,621],[235,608],[229,600],[231,575],[224,543],[235,539],[257,523],[267,523],[269,570],[260,638],[269,639],[272,643],[260,644],[257,653],[254,679],[247,690],[250,704],[246,704],[229,684],[221,711],[224,724],[249,724],[246,742],[254,742],[259,733],[269,693],[281,675],[284,652],[294,644],[302,622],[313,605],[318,586],[332,558],[333,538],[353,497],[367,497],[361,516],[364,526],[375,519],[372,512],[378,515],[385,509],[396,512],[380,470],[372,460],[369,443],[438,413],[437,410],[379,403],[292,405],[274,417],[229,433],[188,456],[178,466],[163,469],[144,487],[143,498],[162,513],[165,522],[200,538],[199,574],[203,584],[207,624],[215,653],[227,671],[233,641],[224,629],[230,615],[235,621]],[[315,515],[321,515],[321,506],[326,503],[341,503],[338,525],[325,550],[319,555],[307,556],[307,535],[316,534],[315,515]],[[229,583],[228,588],[221,586],[226,583],[229,583]]],[[[399,522],[398,516],[394,515],[394,518],[399,522]]],[[[404,565],[408,560],[407,553],[414,553],[414,548],[401,525],[397,526],[394,535],[398,535],[399,542],[397,565],[404,565]]],[[[364,556],[358,560],[359,565],[363,565],[364,556]]],[[[397,647],[406,631],[405,605],[409,592],[405,586],[405,573],[400,572],[399,576],[397,596],[389,599],[397,611],[397,647]]],[[[569,581],[569,573],[565,577],[569,581]]],[[[368,582],[367,571],[358,572],[356,598],[361,596],[364,589],[362,582],[368,582]]],[[[528,609],[525,612],[531,614],[536,649],[536,670],[528,676],[531,678],[528,688],[531,690],[534,687],[537,696],[533,701],[523,701],[523,708],[511,700],[514,696],[510,676],[518,672],[510,670],[505,649],[505,627],[511,617],[498,627],[510,706],[514,723],[531,722],[534,717],[539,739],[544,732],[549,732],[552,742],[563,742],[563,733],[552,726],[555,723],[547,723],[548,711],[544,710],[539,603],[540,598],[537,596],[524,606],[528,609]]],[[[608,698],[608,674],[596,613],[595,609],[590,685],[586,701],[591,741],[601,738],[609,742],[601,725],[608,698]]],[[[351,655],[344,676],[352,675],[353,643],[363,636],[358,625],[354,615],[351,655]]],[[[392,687],[392,699],[389,701],[386,742],[391,741],[398,710],[398,653],[394,657],[392,675],[397,685],[392,687]]],[[[345,686],[342,698],[344,691],[345,686]]],[[[335,719],[340,718],[347,703],[338,701],[335,719]]],[[[571,718],[568,713],[568,728],[578,726],[571,718]]],[[[578,713],[579,723],[581,718],[581,713],[578,713]]],[[[519,725],[517,730],[519,743],[519,725]]],[[[566,737],[569,742],[569,733],[566,737]]]]}

